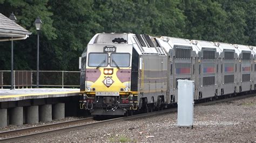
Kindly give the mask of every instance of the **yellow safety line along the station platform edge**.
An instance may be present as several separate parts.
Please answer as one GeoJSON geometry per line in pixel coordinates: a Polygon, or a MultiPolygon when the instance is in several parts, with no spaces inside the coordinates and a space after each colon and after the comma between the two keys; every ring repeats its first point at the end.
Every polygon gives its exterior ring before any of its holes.
{"type": "Polygon", "coordinates": [[[1,98],[14,98],[14,97],[24,97],[24,96],[40,96],[40,95],[57,95],[57,94],[79,94],[80,91],[62,91],[62,92],[46,92],[46,93],[33,93],[33,94],[20,94],[20,95],[4,95],[0,96],[1,98]]]}

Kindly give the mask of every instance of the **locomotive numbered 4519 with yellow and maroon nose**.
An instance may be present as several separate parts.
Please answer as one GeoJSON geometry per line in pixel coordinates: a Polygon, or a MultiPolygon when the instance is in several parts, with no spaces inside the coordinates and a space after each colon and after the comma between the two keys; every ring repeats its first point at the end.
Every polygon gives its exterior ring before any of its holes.
{"type": "Polygon", "coordinates": [[[96,34],[82,55],[80,108],[92,115],[124,115],[163,106],[167,57],[149,35],[96,34]]]}

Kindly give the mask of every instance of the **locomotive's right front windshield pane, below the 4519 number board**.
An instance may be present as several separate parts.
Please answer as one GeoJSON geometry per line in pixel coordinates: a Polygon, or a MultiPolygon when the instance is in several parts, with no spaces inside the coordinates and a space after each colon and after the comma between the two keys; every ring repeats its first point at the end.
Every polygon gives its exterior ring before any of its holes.
{"type": "Polygon", "coordinates": [[[129,67],[130,54],[129,53],[113,53],[110,58],[111,67],[129,67]]]}

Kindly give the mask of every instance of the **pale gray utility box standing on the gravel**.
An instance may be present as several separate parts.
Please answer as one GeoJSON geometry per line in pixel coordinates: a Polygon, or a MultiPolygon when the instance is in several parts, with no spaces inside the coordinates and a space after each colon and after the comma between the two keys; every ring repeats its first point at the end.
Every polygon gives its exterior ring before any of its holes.
{"type": "Polygon", "coordinates": [[[193,128],[194,81],[178,80],[178,126],[193,128]]]}

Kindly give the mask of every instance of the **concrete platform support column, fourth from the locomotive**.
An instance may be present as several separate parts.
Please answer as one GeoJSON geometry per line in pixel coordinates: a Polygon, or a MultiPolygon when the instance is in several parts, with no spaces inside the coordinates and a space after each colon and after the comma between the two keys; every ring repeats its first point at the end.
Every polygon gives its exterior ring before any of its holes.
{"type": "Polygon", "coordinates": [[[23,125],[23,107],[16,107],[11,109],[10,124],[23,125]]]}

